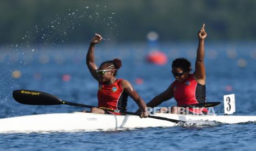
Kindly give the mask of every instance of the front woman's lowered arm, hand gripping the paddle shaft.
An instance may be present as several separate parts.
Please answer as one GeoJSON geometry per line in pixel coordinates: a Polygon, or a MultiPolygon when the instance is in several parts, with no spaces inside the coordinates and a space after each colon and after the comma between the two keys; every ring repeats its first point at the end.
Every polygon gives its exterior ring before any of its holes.
{"type": "Polygon", "coordinates": [[[127,80],[122,80],[122,87],[124,92],[127,92],[127,94],[132,97],[132,99],[138,104],[141,115],[141,118],[148,117],[148,109],[146,108],[146,103],[143,101],[143,99],[139,96],[137,91],[133,89],[132,84],[130,84],[127,80]]]}

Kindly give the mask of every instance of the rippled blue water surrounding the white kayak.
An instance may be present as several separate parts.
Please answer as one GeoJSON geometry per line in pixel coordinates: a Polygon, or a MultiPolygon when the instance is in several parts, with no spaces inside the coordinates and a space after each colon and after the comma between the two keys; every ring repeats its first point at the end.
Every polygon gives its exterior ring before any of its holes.
{"type": "MultiPolygon", "coordinates": [[[[28,106],[15,102],[12,91],[31,89],[48,92],[62,100],[97,105],[97,82],[86,65],[88,45],[61,45],[56,47],[31,47],[18,50],[0,48],[0,118],[44,113],[70,113],[84,108],[72,106],[28,106]],[[32,51],[34,49],[34,51],[32,51]],[[20,77],[12,77],[19,71],[20,77]],[[65,82],[63,75],[70,77],[65,82]]],[[[162,43],[151,48],[143,44],[118,44],[108,42],[96,46],[96,62],[119,57],[123,66],[117,78],[129,80],[140,96],[149,102],[164,91],[174,80],[171,62],[176,57],[186,57],[194,68],[197,42],[162,43]],[[164,66],[146,62],[146,55],[153,49],[166,53],[164,66]],[[136,80],[142,79],[142,84],[136,80]]],[[[256,115],[256,44],[206,43],[207,69],[206,95],[208,102],[222,101],[223,95],[235,94],[235,115],[256,115]]],[[[161,106],[173,106],[174,100],[161,106]]],[[[137,105],[128,101],[128,111],[137,105]]],[[[216,113],[223,106],[215,108],[216,113]]],[[[256,123],[213,124],[208,126],[152,127],[147,129],[0,134],[2,150],[254,150],[256,123]]]]}

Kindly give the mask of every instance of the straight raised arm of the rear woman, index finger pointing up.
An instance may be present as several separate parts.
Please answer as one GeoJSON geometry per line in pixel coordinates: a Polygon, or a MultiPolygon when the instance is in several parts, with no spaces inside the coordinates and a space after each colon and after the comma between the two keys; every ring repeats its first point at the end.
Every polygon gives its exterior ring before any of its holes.
{"type": "Polygon", "coordinates": [[[195,79],[199,84],[204,85],[205,79],[206,79],[206,73],[205,73],[205,65],[204,65],[204,39],[207,36],[207,33],[204,29],[205,24],[203,24],[203,27],[198,32],[198,38],[199,38],[199,44],[197,49],[197,60],[195,60],[195,72],[194,76],[195,79]]]}

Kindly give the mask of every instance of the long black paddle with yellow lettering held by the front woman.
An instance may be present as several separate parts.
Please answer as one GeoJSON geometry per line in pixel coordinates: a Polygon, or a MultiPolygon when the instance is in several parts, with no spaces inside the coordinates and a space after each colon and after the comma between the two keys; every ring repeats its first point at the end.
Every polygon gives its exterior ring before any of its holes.
{"type": "MultiPolygon", "coordinates": [[[[21,104],[29,104],[29,105],[59,105],[59,104],[66,104],[69,106],[78,106],[78,107],[86,107],[86,108],[92,108],[95,106],[88,106],[85,104],[78,104],[78,103],[72,103],[68,101],[63,101],[60,98],[47,94],[45,92],[41,91],[35,91],[35,90],[14,90],[13,91],[13,98],[17,102],[21,104]]],[[[115,109],[109,109],[109,108],[101,108],[104,111],[110,111],[110,112],[117,112],[117,113],[123,113],[123,114],[130,114],[130,115],[137,115],[139,114],[133,113],[133,112],[127,112],[127,111],[121,111],[121,110],[115,110],[115,109]]],[[[154,119],[160,119],[160,120],[167,120],[171,121],[173,123],[178,123],[179,121],[184,122],[182,120],[175,120],[175,119],[169,119],[164,117],[156,117],[153,115],[149,115],[148,118],[154,118],[154,119]]]]}

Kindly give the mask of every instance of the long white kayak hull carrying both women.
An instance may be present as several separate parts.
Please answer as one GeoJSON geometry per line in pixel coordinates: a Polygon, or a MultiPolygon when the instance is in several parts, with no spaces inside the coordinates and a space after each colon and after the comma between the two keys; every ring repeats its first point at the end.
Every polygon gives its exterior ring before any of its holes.
{"type": "MultiPolygon", "coordinates": [[[[217,121],[226,124],[256,121],[256,116],[195,116],[163,113],[154,115],[183,121],[204,120],[217,121]]],[[[170,121],[152,118],[141,119],[135,115],[110,115],[75,112],[27,115],[0,119],[0,132],[97,131],[133,129],[141,127],[171,127],[175,125],[176,123],[172,123],[170,121]]]]}

